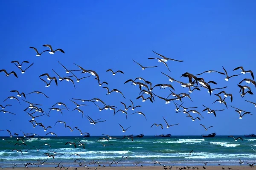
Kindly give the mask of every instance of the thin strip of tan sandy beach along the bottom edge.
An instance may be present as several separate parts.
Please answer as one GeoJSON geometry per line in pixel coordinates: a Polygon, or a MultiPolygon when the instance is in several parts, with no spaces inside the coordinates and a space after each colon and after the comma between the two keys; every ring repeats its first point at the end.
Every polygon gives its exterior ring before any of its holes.
{"type": "MultiPolygon", "coordinates": [[[[170,170],[169,166],[168,167],[168,170],[170,170]]],[[[188,166],[190,167],[190,166],[188,166]]],[[[203,170],[203,166],[196,166],[195,169],[198,169],[199,170],[203,170]]],[[[256,167],[250,167],[250,166],[247,166],[247,165],[243,165],[243,166],[205,166],[207,170],[222,170],[222,168],[225,168],[225,170],[228,170],[228,168],[231,168],[231,170],[255,170],[256,167]]],[[[100,170],[100,169],[115,169],[115,170],[139,170],[139,169],[145,169],[145,170],[164,170],[163,166],[138,166],[138,167],[97,167],[97,166],[91,166],[91,167],[70,167],[69,169],[75,169],[75,168],[78,168],[78,169],[94,169],[94,170],[100,170]]],[[[173,166],[172,167],[172,170],[179,170],[181,167],[180,166],[173,166]]],[[[4,168],[6,170],[13,170],[12,168],[4,168]]],[[[56,168],[54,167],[29,167],[29,168],[26,168],[26,167],[15,167],[16,170],[56,170],[56,168]]],[[[189,168],[190,170],[192,170],[192,166],[191,168],[189,168]]]]}

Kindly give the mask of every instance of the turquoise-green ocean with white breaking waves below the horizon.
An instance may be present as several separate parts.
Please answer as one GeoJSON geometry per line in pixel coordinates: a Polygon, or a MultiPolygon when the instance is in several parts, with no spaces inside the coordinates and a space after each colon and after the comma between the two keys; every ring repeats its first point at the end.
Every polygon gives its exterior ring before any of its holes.
{"type": "MultiPolygon", "coordinates": [[[[44,139],[35,137],[27,139],[25,145],[14,146],[16,137],[2,137],[0,141],[0,166],[10,167],[12,164],[24,167],[22,163],[35,163],[45,161],[44,166],[54,167],[55,164],[62,161],[61,164],[69,164],[70,166],[89,164],[91,161],[99,161],[99,164],[109,166],[108,162],[120,161],[118,165],[112,166],[135,166],[137,162],[144,166],[154,166],[153,161],[159,161],[161,165],[203,165],[208,161],[207,165],[239,165],[239,158],[246,162],[256,162],[256,138],[241,136],[235,141],[228,136],[215,136],[214,138],[203,138],[202,136],[171,136],[171,137],[155,137],[144,136],[143,138],[134,138],[134,142],[129,139],[109,139],[110,142],[99,138],[105,136],[44,136],[44,139]],[[65,145],[66,142],[82,142],[85,149],[74,145],[65,145]],[[105,147],[101,144],[106,144],[105,147]],[[49,144],[44,145],[45,143],[49,144]],[[43,145],[42,145],[43,144],[43,145]],[[109,145],[111,144],[111,145],[109,145]],[[42,146],[41,146],[42,145],[42,146]],[[39,151],[36,148],[42,147],[39,151]],[[22,150],[20,152],[12,151],[13,149],[22,150]],[[189,153],[193,150],[191,155],[189,153]],[[57,155],[55,159],[48,158],[44,153],[53,154],[51,151],[62,153],[57,155]],[[77,153],[81,156],[70,156],[77,153]],[[122,156],[131,156],[125,160],[122,156]],[[75,159],[79,159],[76,163],[75,159]],[[55,164],[54,164],[55,163],[55,164]]],[[[115,136],[122,138],[122,136],[115,136]]],[[[21,143],[21,142],[19,142],[21,143]]],[[[159,164],[156,164],[159,165],[159,164]]],[[[17,166],[17,167],[18,167],[17,166]]],[[[159,165],[160,166],[160,165],[159,165]]]]}

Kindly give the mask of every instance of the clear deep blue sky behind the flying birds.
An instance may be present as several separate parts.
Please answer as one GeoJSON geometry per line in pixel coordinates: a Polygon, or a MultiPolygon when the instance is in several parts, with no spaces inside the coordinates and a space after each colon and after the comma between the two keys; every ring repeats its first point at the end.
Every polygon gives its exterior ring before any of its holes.
{"type": "MultiPolygon", "coordinates": [[[[43,95],[29,94],[26,100],[42,104],[42,108],[47,113],[56,102],[63,102],[70,108],[70,111],[63,111],[63,115],[56,111],[50,112],[50,117],[42,116],[36,118],[37,122],[42,122],[45,126],[52,126],[47,132],[55,132],[57,135],[79,135],[78,131],[70,132],[64,125],[57,124],[57,120],[65,121],[71,127],[78,126],[83,132],[91,135],[101,133],[110,135],[123,134],[168,134],[172,135],[200,135],[216,132],[218,135],[243,135],[246,133],[256,133],[255,129],[255,107],[244,101],[247,99],[256,102],[255,95],[246,94],[241,98],[237,84],[244,78],[250,78],[250,74],[232,77],[230,81],[224,80],[225,76],[218,73],[202,74],[206,81],[213,80],[217,85],[212,88],[227,86],[225,91],[233,94],[233,102],[227,98],[228,109],[223,104],[214,103],[217,96],[210,96],[207,90],[194,91],[191,94],[193,102],[184,98],[183,105],[186,107],[198,107],[205,119],[201,121],[192,120],[186,114],[175,113],[175,105],[166,105],[162,99],[155,96],[155,102],[142,102],[137,99],[140,90],[138,86],[124,84],[128,79],[143,77],[155,84],[169,84],[168,78],[161,74],[161,71],[169,76],[188,82],[188,79],[181,77],[181,74],[189,72],[199,74],[207,70],[217,70],[223,72],[222,66],[226,68],[229,75],[241,74],[240,70],[232,71],[234,68],[243,66],[245,70],[252,70],[256,74],[256,2],[253,0],[216,0],[216,1],[0,1],[0,69],[8,72],[15,71],[18,79],[13,75],[1,77],[0,104],[11,104],[12,107],[6,111],[16,113],[10,115],[0,112],[0,129],[9,129],[12,132],[46,134],[42,127],[32,127],[28,122],[31,118],[23,110],[28,106],[20,98],[21,105],[15,100],[7,99],[8,96],[16,96],[11,90],[18,90],[28,94],[32,91],[42,91],[49,99],[43,95]],[[38,49],[39,52],[48,49],[43,44],[52,45],[53,49],[61,48],[65,51],[62,54],[57,51],[54,55],[48,52],[36,57],[36,53],[29,46],[38,49]],[[158,57],[152,52],[163,54],[166,57],[184,60],[184,62],[168,61],[167,64],[171,73],[157,60],[150,60],[148,57],[158,57]],[[147,68],[144,71],[135,61],[143,66],[155,66],[157,68],[147,68]],[[21,74],[19,69],[11,63],[13,60],[20,62],[26,60],[34,62],[25,74],[21,74]],[[70,76],[66,74],[64,68],[58,64],[61,62],[68,69],[77,69],[76,63],[87,70],[94,70],[99,74],[101,82],[108,82],[107,87],[116,88],[125,95],[112,93],[106,95],[107,90],[99,87],[95,77],[82,79],[75,83],[76,89],[70,82],[59,82],[58,87],[54,83],[49,88],[45,88],[38,76],[49,73],[56,76],[54,69],[62,77],[70,76]],[[108,69],[114,71],[122,70],[125,74],[112,76],[108,69]],[[100,112],[93,103],[84,103],[88,106],[81,106],[84,115],[89,115],[93,119],[106,120],[95,126],[82,118],[81,113],[72,111],[76,108],[69,99],[92,99],[100,98],[108,105],[114,105],[118,109],[124,109],[120,102],[130,105],[131,99],[135,105],[142,105],[135,111],[145,113],[147,120],[143,116],[131,113],[128,110],[128,119],[121,112],[113,116],[113,111],[104,110],[100,112]],[[225,109],[217,112],[217,117],[207,112],[202,112],[203,105],[212,109],[225,109]],[[243,119],[238,119],[239,114],[230,105],[249,111],[253,115],[245,115],[243,119]],[[164,128],[151,127],[153,123],[180,125],[164,128]],[[122,133],[121,127],[131,126],[127,132],[122,133]],[[205,126],[214,127],[205,131],[199,123],[205,126]]],[[[26,64],[26,63],[25,63],[26,64]]],[[[22,68],[28,66],[25,65],[22,68]]],[[[74,72],[77,77],[88,76],[90,74],[80,74],[74,72]]],[[[46,77],[43,77],[46,79],[46,77]]],[[[175,93],[188,93],[188,88],[180,87],[180,84],[173,82],[175,93]]],[[[247,85],[243,82],[243,85],[247,85]]],[[[250,84],[253,93],[255,87],[250,84]]],[[[218,91],[214,91],[216,94],[218,91]]],[[[170,91],[168,88],[154,88],[154,94],[167,97],[170,91]]],[[[145,95],[147,96],[147,95],[145,95]]],[[[223,97],[223,94],[221,95],[223,97]]],[[[180,104],[180,101],[175,101],[180,104]]],[[[100,103],[97,103],[100,105],[100,103]]],[[[101,105],[102,106],[102,105],[101,105]]],[[[191,113],[193,117],[197,117],[191,113]]],[[[37,115],[39,115],[37,113],[37,115]]],[[[1,136],[7,136],[8,132],[1,132],[1,136]]]]}

